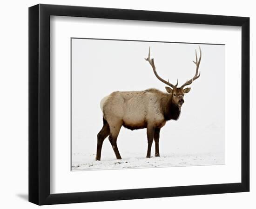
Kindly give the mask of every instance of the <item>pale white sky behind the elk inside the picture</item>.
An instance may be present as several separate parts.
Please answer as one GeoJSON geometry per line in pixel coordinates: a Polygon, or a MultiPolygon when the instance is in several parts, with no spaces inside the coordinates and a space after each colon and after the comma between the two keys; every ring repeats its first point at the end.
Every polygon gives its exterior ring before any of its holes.
{"type": "MultiPolygon", "coordinates": [[[[100,101],[113,91],[165,91],[147,61],[148,48],[158,74],[182,85],[195,74],[198,44],[72,39],[72,153],[95,154],[102,127],[100,101]]],[[[185,95],[178,121],[168,121],[160,134],[161,153],[225,151],[225,46],[200,44],[201,76],[185,95]]],[[[199,53],[198,53],[199,54],[199,53]]],[[[121,156],[147,151],[146,129],[121,128],[121,156]]],[[[152,153],[154,153],[154,145],[152,153]]],[[[112,153],[108,138],[102,155],[112,153]]],[[[128,157],[128,156],[127,156],[128,157]]]]}

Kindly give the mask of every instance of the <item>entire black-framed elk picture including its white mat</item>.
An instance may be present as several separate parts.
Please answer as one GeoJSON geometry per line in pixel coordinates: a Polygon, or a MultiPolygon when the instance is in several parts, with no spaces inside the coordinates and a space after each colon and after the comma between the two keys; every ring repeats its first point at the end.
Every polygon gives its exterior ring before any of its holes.
{"type": "Polygon", "coordinates": [[[30,202],[245,191],[248,17],[29,8],[30,202]]]}

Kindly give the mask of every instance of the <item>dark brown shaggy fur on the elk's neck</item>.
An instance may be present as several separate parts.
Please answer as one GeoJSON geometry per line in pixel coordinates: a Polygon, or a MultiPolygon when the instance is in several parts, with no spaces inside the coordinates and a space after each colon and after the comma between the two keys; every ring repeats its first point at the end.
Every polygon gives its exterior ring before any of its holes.
{"type": "Polygon", "coordinates": [[[172,103],[172,97],[162,99],[162,109],[165,120],[178,120],[181,114],[177,105],[172,103]]]}

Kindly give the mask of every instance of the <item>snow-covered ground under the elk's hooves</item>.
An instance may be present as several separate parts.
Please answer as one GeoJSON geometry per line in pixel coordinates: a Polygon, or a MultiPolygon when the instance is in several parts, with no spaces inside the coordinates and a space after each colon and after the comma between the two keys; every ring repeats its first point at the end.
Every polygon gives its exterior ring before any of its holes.
{"type": "MultiPolygon", "coordinates": [[[[114,153],[113,153],[114,155],[114,153]]],[[[193,165],[224,164],[225,157],[220,153],[203,154],[162,154],[161,157],[146,158],[138,153],[124,155],[121,160],[114,156],[101,156],[101,161],[95,161],[95,155],[74,153],[72,155],[72,170],[107,170],[149,167],[172,167],[193,165]],[[128,157],[129,156],[129,157],[128,157]]]]}

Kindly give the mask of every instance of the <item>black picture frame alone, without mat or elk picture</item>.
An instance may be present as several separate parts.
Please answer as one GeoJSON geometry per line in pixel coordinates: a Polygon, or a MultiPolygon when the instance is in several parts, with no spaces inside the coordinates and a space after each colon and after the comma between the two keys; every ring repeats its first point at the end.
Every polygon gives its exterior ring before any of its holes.
{"type": "Polygon", "coordinates": [[[39,4],[29,7],[29,202],[38,205],[249,191],[249,18],[39,4]],[[50,194],[50,16],[242,27],[240,183],[50,194]]]}

